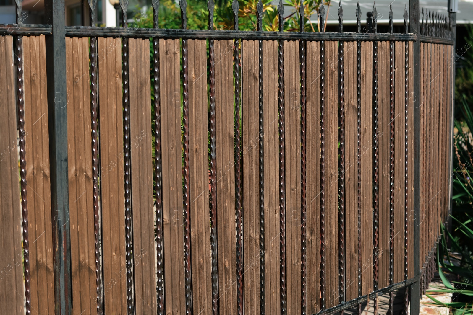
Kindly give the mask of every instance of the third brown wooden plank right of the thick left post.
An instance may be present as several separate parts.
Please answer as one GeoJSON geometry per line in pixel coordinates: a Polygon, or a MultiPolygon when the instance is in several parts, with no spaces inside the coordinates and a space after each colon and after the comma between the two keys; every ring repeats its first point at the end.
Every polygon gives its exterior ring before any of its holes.
{"type": "Polygon", "coordinates": [[[137,314],[156,313],[149,40],[130,38],[130,141],[134,294],[137,314]]]}

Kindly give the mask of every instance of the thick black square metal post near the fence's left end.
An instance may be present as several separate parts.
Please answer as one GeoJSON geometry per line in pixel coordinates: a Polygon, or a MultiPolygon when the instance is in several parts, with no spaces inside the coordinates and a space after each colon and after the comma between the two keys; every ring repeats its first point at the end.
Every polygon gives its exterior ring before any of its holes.
{"type": "Polygon", "coordinates": [[[44,2],[52,34],[46,36],[51,212],[53,218],[54,309],[72,309],[70,277],[69,184],[67,166],[66,38],[63,0],[44,2]]]}

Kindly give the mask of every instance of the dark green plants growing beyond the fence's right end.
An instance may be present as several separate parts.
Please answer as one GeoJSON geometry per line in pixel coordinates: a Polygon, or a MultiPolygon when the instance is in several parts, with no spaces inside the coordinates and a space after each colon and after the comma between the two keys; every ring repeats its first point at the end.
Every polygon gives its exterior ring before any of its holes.
{"type": "Polygon", "coordinates": [[[447,306],[454,315],[473,313],[473,27],[468,27],[465,46],[456,51],[459,68],[455,77],[455,121],[450,227],[441,227],[438,244],[438,273],[445,288],[428,290],[434,304],[447,306]],[[454,279],[453,281],[449,281],[454,279]],[[452,294],[443,303],[433,292],[452,294]]]}

